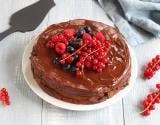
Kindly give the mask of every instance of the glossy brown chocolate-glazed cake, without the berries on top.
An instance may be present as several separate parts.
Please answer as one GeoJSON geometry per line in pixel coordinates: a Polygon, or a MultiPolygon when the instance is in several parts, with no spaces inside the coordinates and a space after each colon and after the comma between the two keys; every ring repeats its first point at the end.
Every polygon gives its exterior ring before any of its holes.
{"type": "Polygon", "coordinates": [[[91,20],[71,20],[49,26],[38,38],[31,53],[33,76],[50,96],[77,103],[93,104],[112,97],[128,85],[131,59],[128,46],[116,28],[91,20]],[[53,63],[53,50],[46,48],[47,39],[67,28],[90,26],[102,32],[110,43],[108,64],[102,73],[84,70],[86,77],[76,77],[53,63]]]}

